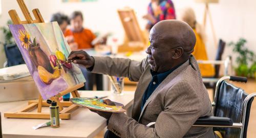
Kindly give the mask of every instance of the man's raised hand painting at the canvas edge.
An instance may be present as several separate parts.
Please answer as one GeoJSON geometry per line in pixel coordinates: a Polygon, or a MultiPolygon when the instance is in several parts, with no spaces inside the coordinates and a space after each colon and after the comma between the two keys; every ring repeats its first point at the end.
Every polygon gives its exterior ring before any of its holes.
{"type": "Polygon", "coordinates": [[[75,64],[81,64],[85,67],[94,66],[94,58],[88,55],[85,51],[72,51],[69,54],[68,60],[71,60],[75,64]]]}

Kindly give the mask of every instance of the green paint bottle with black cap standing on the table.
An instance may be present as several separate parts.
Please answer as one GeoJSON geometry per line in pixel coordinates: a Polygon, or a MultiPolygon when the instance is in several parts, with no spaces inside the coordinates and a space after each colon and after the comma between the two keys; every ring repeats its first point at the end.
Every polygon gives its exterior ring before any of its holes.
{"type": "Polygon", "coordinates": [[[50,106],[50,119],[51,119],[51,127],[57,128],[59,127],[59,106],[55,101],[47,100],[47,103],[51,103],[50,106]]]}

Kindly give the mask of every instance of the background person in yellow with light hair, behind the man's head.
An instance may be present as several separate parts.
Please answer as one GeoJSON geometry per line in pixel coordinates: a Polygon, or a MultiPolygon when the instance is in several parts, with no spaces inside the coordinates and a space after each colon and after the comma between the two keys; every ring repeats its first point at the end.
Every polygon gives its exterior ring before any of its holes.
{"type": "MultiPolygon", "coordinates": [[[[192,55],[197,60],[208,60],[205,49],[205,34],[202,27],[197,23],[195,12],[192,8],[185,8],[181,10],[180,20],[187,22],[187,24],[194,30],[197,42],[192,55]]],[[[199,64],[202,77],[212,77],[215,75],[215,69],[211,64],[199,64]]]]}

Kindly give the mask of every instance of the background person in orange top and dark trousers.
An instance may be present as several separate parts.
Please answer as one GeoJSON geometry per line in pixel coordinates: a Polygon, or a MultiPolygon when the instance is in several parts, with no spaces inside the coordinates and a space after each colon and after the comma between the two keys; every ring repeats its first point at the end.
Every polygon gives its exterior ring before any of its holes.
{"type": "MultiPolygon", "coordinates": [[[[74,11],[71,14],[71,28],[65,32],[65,37],[68,43],[74,41],[78,45],[71,48],[72,51],[86,50],[94,48],[92,41],[96,38],[93,32],[83,28],[83,15],[80,11],[74,11]]],[[[81,68],[84,77],[86,78],[85,89],[93,90],[93,85],[96,83],[97,90],[103,90],[102,75],[88,72],[85,68],[81,68]]]]}

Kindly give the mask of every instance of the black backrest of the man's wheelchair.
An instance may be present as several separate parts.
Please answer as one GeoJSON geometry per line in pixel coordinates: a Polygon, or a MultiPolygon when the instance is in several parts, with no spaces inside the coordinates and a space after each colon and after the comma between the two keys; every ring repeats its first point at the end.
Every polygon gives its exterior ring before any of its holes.
{"type": "MultiPolygon", "coordinates": [[[[233,86],[226,81],[222,81],[219,85],[215,99],[214,115],[216,117],[227,117],[232,119],[233,123],[241,123],[243,116],[244,100],[248,96],[241,88],[233,86]]],[[[253,100],[253,99],[252,99],[253,100]]],[[[250,110],[252,100],[247,104],[247,110],[250,110]]],[[[244,133],[246,137],[246,131],[249,121],[249,113],[246,112],[246,120],[244,124],[244,133]]],[[[223,137],[240,137],[241,130],[239,128],[214,128],[216,131],[220,131],[223,137]]]]}

